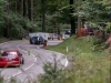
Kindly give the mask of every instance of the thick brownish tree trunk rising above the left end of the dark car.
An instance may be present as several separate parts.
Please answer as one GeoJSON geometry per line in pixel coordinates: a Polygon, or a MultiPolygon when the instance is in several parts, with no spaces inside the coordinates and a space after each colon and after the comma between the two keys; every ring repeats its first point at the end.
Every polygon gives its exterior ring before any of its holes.
{"type": "Polygon", "coordinates": [[[33,0],[28,0],[28,17],[33,21],[33,0]]]}

